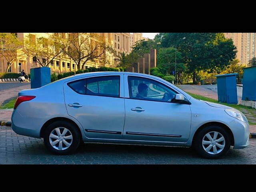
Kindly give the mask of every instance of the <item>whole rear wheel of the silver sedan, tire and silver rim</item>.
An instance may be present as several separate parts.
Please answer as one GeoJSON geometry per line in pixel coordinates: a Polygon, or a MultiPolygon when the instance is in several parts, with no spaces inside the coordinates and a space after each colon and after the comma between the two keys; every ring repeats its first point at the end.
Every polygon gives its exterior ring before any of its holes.
{"type": "Polygon", "coordinates": [[[44,132],[46,148],[57,155],[74,153],[80,145],[80,140],[79,131],[70,122],[53,122],[44,132]]]}

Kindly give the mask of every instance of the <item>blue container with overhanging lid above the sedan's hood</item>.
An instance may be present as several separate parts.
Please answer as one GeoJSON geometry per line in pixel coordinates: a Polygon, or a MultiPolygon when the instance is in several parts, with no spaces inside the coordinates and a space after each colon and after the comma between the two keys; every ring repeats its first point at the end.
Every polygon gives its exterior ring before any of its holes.
{"type": "Polygon", "coordinates": [[[237,73],[216,75],[218,88],[218,101],[237,104],[236,76],[237,73]]]}

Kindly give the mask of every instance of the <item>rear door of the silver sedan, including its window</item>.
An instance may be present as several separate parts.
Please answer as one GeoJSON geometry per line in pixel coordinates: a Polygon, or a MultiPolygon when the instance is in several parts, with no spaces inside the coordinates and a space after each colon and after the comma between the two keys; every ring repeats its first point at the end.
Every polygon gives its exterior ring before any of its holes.
{"type": "Polygon", "coordinates": [[[68,115],[76,118],[86,137],[122,139],[123,74],[90,76],[64,83],[68,115]]]}

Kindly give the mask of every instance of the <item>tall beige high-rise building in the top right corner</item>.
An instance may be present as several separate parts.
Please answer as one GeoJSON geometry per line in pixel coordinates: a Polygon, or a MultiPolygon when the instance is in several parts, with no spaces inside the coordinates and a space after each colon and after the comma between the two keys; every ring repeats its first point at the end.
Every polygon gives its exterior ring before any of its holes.
{"type": "Polygon", "coordinates": [[[248,65],[250,59],[256,56],[256,33],[224,33],[231,38],[237,48],[236,58],[240,64],[248,65]]]}

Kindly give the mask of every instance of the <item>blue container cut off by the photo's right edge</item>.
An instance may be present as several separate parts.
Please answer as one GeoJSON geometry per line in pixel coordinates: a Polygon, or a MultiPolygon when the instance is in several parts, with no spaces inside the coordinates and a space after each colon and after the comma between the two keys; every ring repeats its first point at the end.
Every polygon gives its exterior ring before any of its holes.
{"type": "Polygon", "coordinates": [[[244,68],[242,100],[256,101],[256,67],[244,68]]]}

